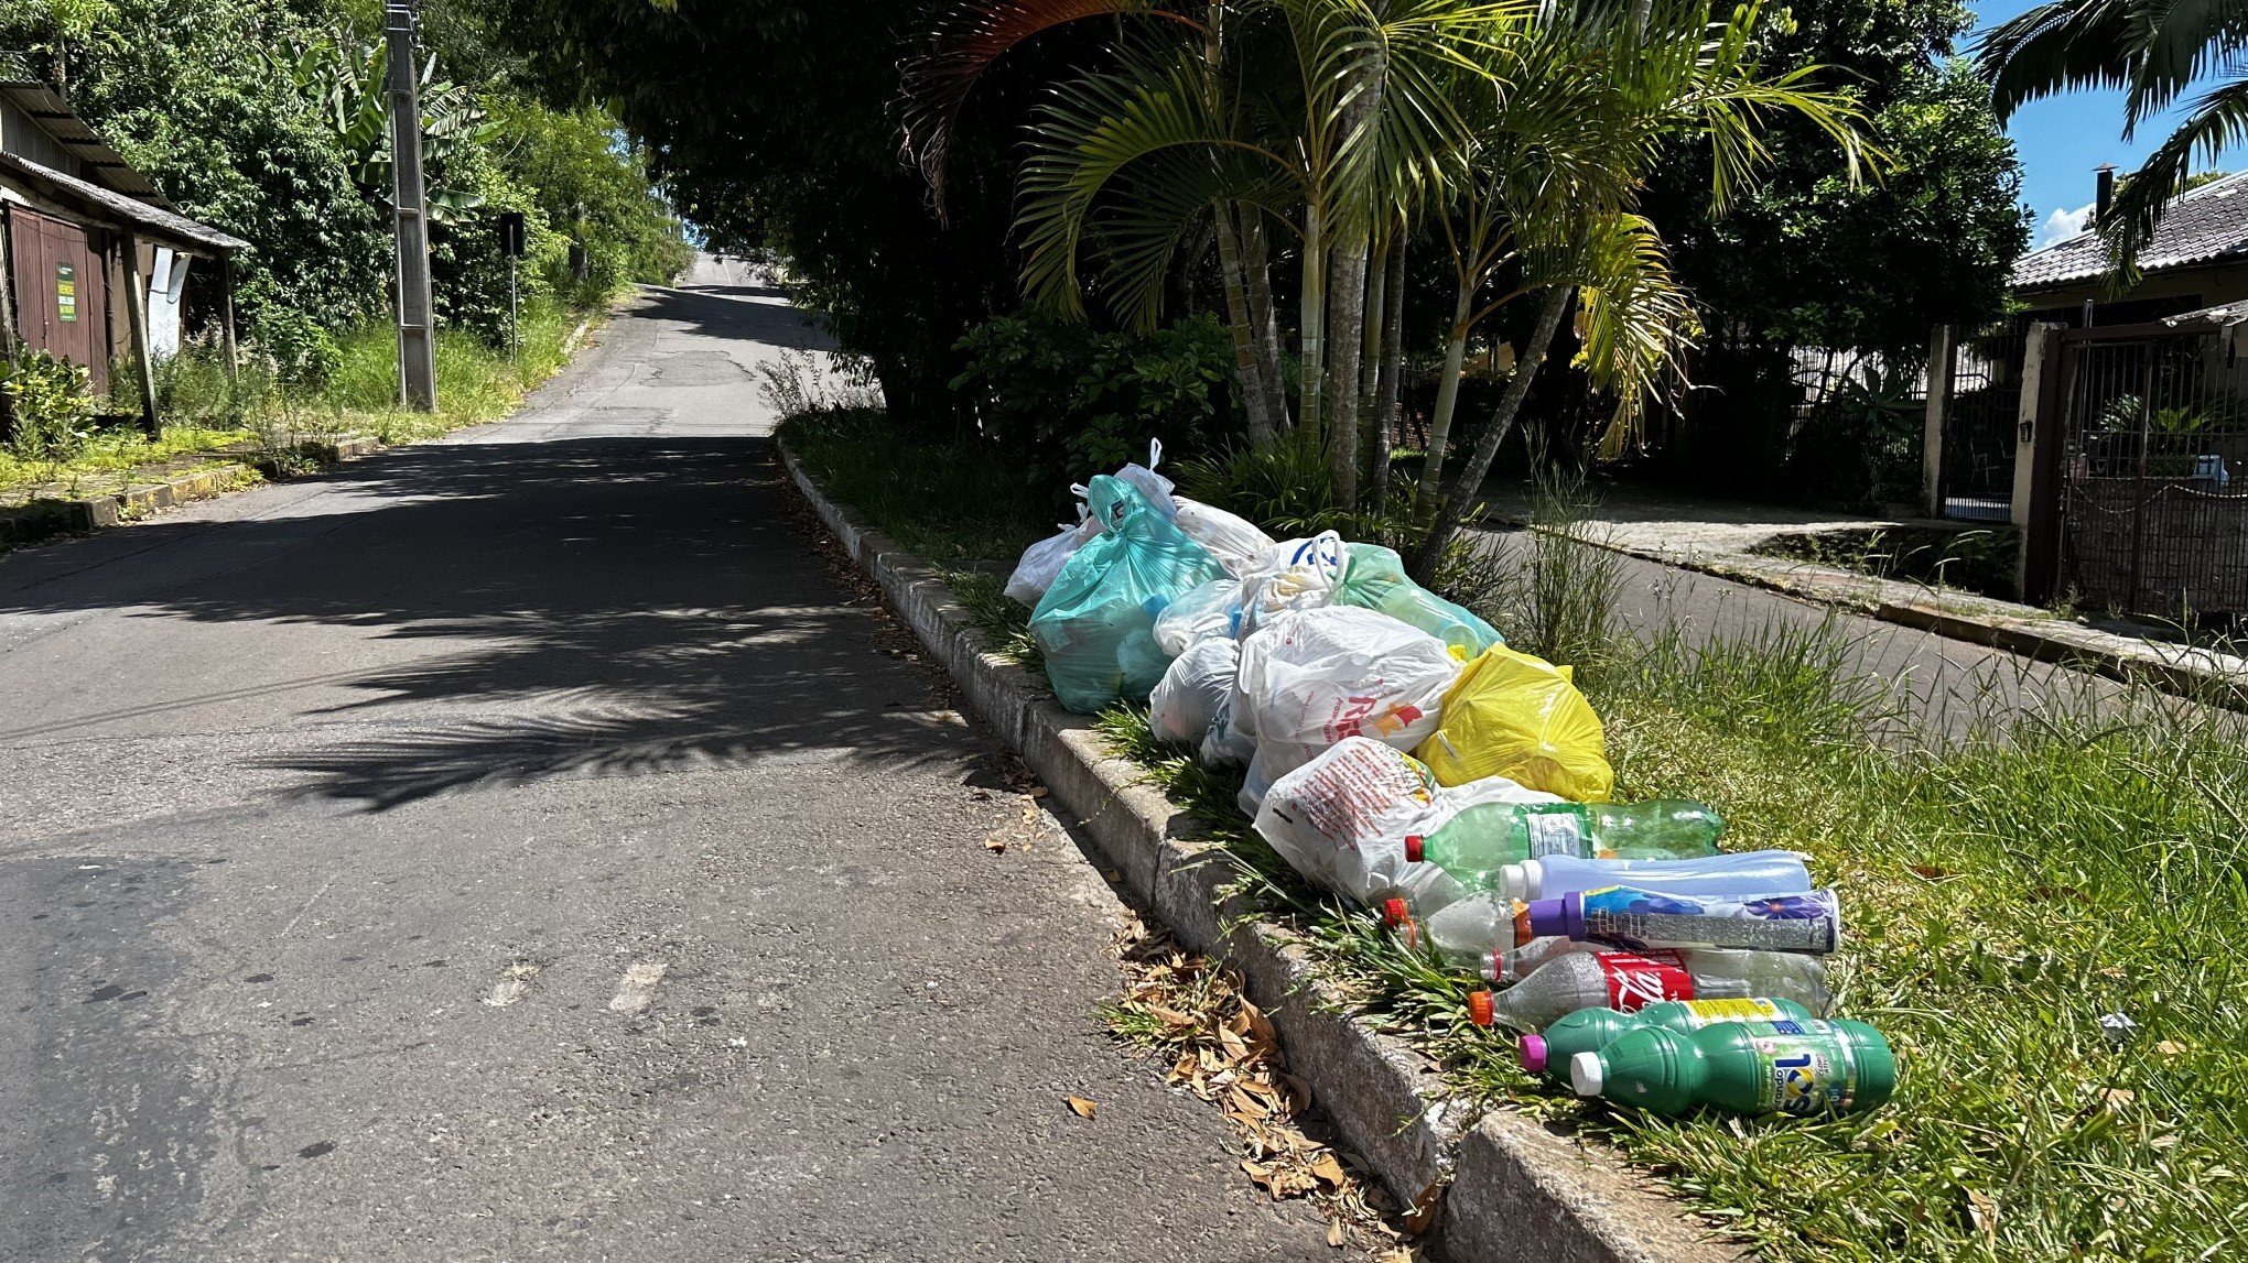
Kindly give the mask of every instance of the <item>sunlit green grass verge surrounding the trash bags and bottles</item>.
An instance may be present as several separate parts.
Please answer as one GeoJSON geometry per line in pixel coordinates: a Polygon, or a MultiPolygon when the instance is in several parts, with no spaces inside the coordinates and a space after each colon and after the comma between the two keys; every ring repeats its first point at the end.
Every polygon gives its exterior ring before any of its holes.
{"type": "MultiPolygon", "coordinates": [[[[850,458],[832,447],[825,463],[850,458]]],[[[888,515],[928,503],[895,479],[913,481],[895,465],[874,481],[888,515]]],[[[931,530],[969,537],[944,521],[931,530]]],[[[1585,649],[1605,627],[1583,600],[1601,582],[1585,573],[1596,551],[1556,548],[1452,596],[1522,647],[1562,636],[1585,649]]],[[[994,600],[996,584],[971,605],[994,600]]],[[[1922,739],[1913,703],[1855,670],[1834,625],[1715,643],[1668,629],[1596,656],[1580,681],[1607,721],[1619,798],[1708,800],[1729,847],[1807,852],[1843,892],[1850,937],[1832,982],[1839,1011],[1897,1047],[1886,1108],[1675,1121],[1553,1092],[1513,1065],[1511,1038],[1463,1023],[1477,980],[1304,885],[1234,809],[1230,773],[1155,744],[1133,708],[1102,728],[1205,823],[1263,912],[1317,944],[1360,1016],[1436,1056],[1461,1094],[1612,1142],[1762,1256],[2248,1252],[2248,964],[2235,951],[2248,933],[2248,717],[2064,692],[1965,739],[1922,739]],[[2106,1014],[2136,1023],[2129,1038],[2109,1038],[2106,1014]]]]}

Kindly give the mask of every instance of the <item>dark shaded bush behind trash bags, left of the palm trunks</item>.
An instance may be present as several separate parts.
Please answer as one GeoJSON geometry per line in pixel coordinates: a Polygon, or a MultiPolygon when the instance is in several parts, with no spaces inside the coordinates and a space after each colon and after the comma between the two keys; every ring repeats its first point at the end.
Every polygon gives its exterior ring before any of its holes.
{"type": "Polygon", "coordinates": [[[985,438],[1027,461],[1018,472],[1063,485],[1173,452],[1214,447],[1239,416],[1232,342],[1214,317],[1144,337],[1045,315],[989,319],[960,339],[953,378],[985,438]]]}

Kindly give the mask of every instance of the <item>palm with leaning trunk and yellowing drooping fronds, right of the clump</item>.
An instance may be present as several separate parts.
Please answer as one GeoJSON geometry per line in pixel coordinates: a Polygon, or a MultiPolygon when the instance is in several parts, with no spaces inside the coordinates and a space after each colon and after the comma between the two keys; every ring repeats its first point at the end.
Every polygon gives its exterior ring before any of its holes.
{"type": "Polygon", "coordinates": [[[1423,481],[1436,501],[1412,557],[1423,582],[1477,503],[1571,306],[1578,364],[1616,396],[1621,425],[1639,416],[1657,375],[1695,333],[1664,243],[1637,213],[1668,144],[1708,146],[1717,209],[1765,164],[1760,133],[1778,110],[1825,130],[1857,178],[1861,117],[1810,83],[1819,67],[1765,76],[1756,25],[1753,4],[1715,20],[1711,0],[1594,2],[1549,9],[1495,45],[1495,97],[1477,117],[1472,148],[1459,155],[1459,196],[1445,218],[1459,290],[1423,481]],[[1486,301],[1497,276],[1513,288],[1486,301]],[[1477,321],[1517,299],[1533,301],[1538,319],[1468,461],[1441,483],[1466,339],[1477,321]]]}

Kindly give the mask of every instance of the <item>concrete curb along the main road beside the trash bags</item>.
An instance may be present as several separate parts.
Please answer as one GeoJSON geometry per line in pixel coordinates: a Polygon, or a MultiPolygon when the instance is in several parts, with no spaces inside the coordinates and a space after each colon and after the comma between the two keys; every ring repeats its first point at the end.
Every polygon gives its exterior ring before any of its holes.
{"type": "Polygon", "coordinates": [[[937,571],[830,501],[787,447],[780,458],[836,542],[1122,872],[1126,892],[1180,944],[1241,971],[1288,1050],[1290,1072],[1311,1085],[1383,1189],[1398,1205],[1443,1198],[1430,1241],[1445,1259],[1740,1259],[1706,1241],[1677,1202],[1652,1193],[1605,1148],[1511,1110],[1472,1119],[1472,1106],[1443,1092],[1425,1056],[1351,1020],[1322,993],[1295,935],[1225,894],[1232,865],[1191,816],[1135,764],[1108,753],[1093,724],[1061,710],[1030,670],[985,652],[982,632],[937,571]]]}

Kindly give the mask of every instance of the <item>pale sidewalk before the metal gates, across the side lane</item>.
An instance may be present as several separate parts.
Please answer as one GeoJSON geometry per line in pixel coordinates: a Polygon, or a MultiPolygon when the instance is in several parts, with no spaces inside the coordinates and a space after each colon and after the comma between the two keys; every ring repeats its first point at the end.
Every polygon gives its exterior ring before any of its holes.
{"type": "MultiPolygon", "coordinates": [[[[1884,580],[1758,555],[1783,535],[1823,535],[1877,528],[1954,528],[1971,521],[1915,517],[1848,517],[1792,506],[1717,501],[1634,483],[1598,483],[1596,506],[1580,533],[1619,553],[1717,575],[1882,623],[1933,632],[2039,663],[2066,663],[2109,679],[2140,679],[2192,697],[2248,697],[2248,658],[2167,640],[2156,627],[2124,620],[2070,618],[2034,605],[1996,600],[1965,589],[1884,580]]],[[[1490,494],[1486,521],[1526,526],[1526,488],[1490,494]]]]}

